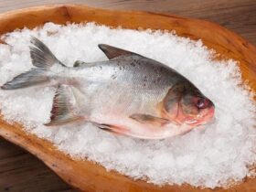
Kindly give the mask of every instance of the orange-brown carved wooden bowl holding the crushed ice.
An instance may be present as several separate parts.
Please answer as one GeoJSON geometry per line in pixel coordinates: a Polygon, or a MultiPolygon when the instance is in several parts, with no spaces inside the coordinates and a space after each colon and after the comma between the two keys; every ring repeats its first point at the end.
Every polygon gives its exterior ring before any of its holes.
{"type": "MultiPolygon", "coordinates": [[[[256,91],[256,48],[242,37],[208,21],[155,13],[103,10],[85,5],[46,5],[0,15],[0,34],[11,32],[16,28],[37,27],[49,21],[63,25],[67,21],[75,23],[94,21],[110,27],[176,30],[179,36],[200,38],[208,48],[214,48],[223,57],[239,60],[243,80],[246,80],[251,89],[256,91]]],[[[249,178],[229,189],[200,189],[187,184],[157,187],[142,180],[134,181],[115,171],[107,172],[101,165],[89,161],[75,161],[69,155],[59,152],[48,141],[24,132],[19,124],[10,125],[0,119],[0,127],[2,137],[36,155],[70,186],[83,191],[256,191],[256,179],[249,178]]]]}

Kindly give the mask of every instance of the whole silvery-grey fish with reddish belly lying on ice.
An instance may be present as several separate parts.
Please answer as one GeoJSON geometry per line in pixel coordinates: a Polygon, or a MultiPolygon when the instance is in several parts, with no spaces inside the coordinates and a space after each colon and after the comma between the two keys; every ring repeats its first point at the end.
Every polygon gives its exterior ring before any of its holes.
{"type": "Polygon", "coordinates": [[[16,90],[56,86],[49,122],[92,123],[103,131],[139,139],[165,139],[209,123],[215,106],[175,69],[154,59],[106,44],[107,60],[72,67],[59,61],[37,37],[31,37],[33,68],[1,86],[16,90]]]}

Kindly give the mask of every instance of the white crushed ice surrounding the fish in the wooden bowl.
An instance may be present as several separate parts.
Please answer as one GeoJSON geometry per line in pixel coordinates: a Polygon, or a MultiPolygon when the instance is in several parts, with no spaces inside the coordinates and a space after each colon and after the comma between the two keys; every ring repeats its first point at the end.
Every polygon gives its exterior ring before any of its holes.
{"type": "Polygon", "coordinates": [[[200,40],[161,31],[110,29],[93,23],[59,26],[48,23],[1,37],[0,85],[32,67],[31,35],[38,37],[63,63],[87,62],[106,57],[97,47],[110,44],[156,59],[194,82],[216,105],[215,121],[175,138],[144,141],[115,136],[91,124],[45,127],[55,88],[35,87],[0,91],[5,120],[22,123],[27,132],[46,138],[74,158],[88,158],[133,178],[156,185],[183,184],[219,187],[240,182],[253,174],[256,162],[253,94],[241,87],[240,69],[234,60],[213,60],[214,51],[200,40]]]}

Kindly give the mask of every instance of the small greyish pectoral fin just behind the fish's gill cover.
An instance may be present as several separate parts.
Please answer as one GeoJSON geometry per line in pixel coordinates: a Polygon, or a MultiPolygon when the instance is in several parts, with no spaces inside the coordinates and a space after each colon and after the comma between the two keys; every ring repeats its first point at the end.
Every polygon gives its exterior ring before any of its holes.
{"type": "Polygon", "coordinates": [[[133,120],[139,122],[139,123],[146,123],[146,124],[151,124],[155,126],[163,126],[166,123],[169,123],[168,120],[160,118],[160,117],[155,117],[149,114],[132,114],[130,116],[133,120]]]}

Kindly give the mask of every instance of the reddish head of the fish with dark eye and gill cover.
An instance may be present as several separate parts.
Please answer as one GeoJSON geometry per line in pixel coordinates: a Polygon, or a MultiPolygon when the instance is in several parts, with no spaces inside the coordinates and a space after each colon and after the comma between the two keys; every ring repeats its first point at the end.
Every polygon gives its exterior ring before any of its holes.
{"type": "Polygon", "coordinates": [[[171,88],[162,102],[162,116],[177,124],[196,127],[208,123],[214,116],[214,103],[190,83],[171,88]]]}

